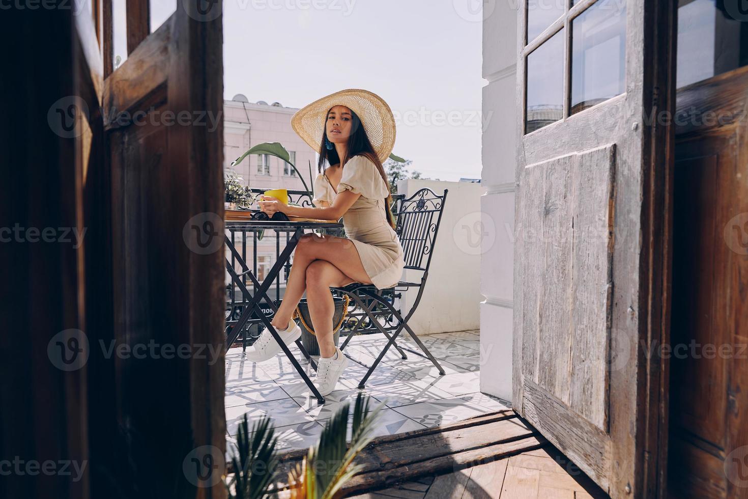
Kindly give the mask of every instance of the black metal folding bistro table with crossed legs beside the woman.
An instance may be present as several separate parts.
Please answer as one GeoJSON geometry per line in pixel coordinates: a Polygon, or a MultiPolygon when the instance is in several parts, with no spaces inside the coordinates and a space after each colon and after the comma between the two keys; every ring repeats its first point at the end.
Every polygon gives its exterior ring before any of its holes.
{"type": "MultiPolygon", "coordinates": [[[[281,254],[278,255],[278,260],[275,261],[275,264],[272,266],[272,269],[268,272],[268,274],[265,277],[265,280],[260,284],[260,281],[257,281],[257,277],[254,275],[254,273],[251,271],[251,269],[247,266],[247,263],[242,258],[242,256],[239,254],[239,251],[236,251],[236,247],[231,242],[231,239],[229,239],[228,236],[224,235],[227,248],[231,251],[231,254],[233,255],[234,259],[239,263],[239,266],[242,267],[242,273],[238,274],[236,270],[234,270],[233,265],[229,261],[228,257],[226,257],[226,270],[231,276],[231,281],[233,281],[234,284],[236,284],[237,287],[239,287],[239,290],[242,291],[242,296],[244,296],[245,300],[245,307],[244,310],[242,310],[242,315],[239,316],[239,319],[236,321],[235,324],[233,324],[233,328],[231,328],[230,331],[227,331],[227,340],[226,340],[226,348],[229,349],[231,345],[236,341],[236,339],[239,337],[239,334],[242,332],[242,328],[247,324],[247,322],[263,322],[265,324],[265,327],[268,331],[270,331],[270,334],[272,334],[275,341],[278,342],[278,344],[281,346],[281,349],[283,350],[283,353],[286,354],[286,357],[291,361],[291,364],[293,364],[293,367],[298,372],[299,376],[301,376],[301,379],[304,379],[304,383],[307,384],[310,391],[317,397],[317,400],[319,403],[323,404],[325,403],[325,398],[322,397],[322,395],[319,394],[319,391],[317,390],[316,386],[311,382],[309,379],[309,376],[307,376],[307,373],[304,373],[304,370],[301,368],[301,364],[298,363],[296,358],[293,356],[291,351],[289,350],[288,346],[286,346],[286,343],[283,343],[281,340],[281,337],[278,336],[278,331],[275,331],[275,328],[270,324],[270,318],[266,316],[266,314],[263,312],[262,307],[260,307],[260,301],[265,299],[269,306],[273,310],[273,314],[278,312],[278,307],[276,307],[275,303],[270,299],[267,292],[269,288],[272,285],[272,282],[275,281],[275,278],[278,277],[278,274],[281,273],[281,269],[283,269],[283,266],[286,265],[286,262],[288,262],[291,258],[291,254],[293,250],[296,248],[296,245],[298,245],[299,239],[301,239],[301,236],[304,235],[304,229],[331,229],[331,228],[340,228],[343,227],[343,224],[339,224],[336,222],[318,222],[318,221],[258,221],[258,220],[242,220],[242,221],[226,221],[226,229],[229,231],[235,231],[235,230],[251,230],[251,231],[257,231],[257,230],[263,230],[263,229],[270,229],[274,230],[276,233],[292,233],[292,236],[288,239],[288,242],[286,242],[286,247],[283,248],[283,251],[281,251],[281,254]],[[247,276],[254,285],[254,296],[248,288],[245,286],[244,282],[242,281],[242,277],[247,276]],[[253,310],[257,310],[257,316],[259,319],[250,319],[250,316],[253,312],[253,310]]],[[[298,349],[301,350],[301,354],[304,355],[304,358],[307,358],[311,364],[313,369],[316,370],[316,364],[310,358],[309,354],[307,353],[306,349],[304,349],[304,346],[301,344],[301,340],[296,340],[296,346],[298,346],[298,349]]]]}

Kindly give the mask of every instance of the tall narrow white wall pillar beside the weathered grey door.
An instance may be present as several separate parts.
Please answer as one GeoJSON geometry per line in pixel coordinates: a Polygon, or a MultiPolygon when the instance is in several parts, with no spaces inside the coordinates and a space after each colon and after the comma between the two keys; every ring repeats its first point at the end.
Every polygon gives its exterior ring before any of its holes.
{"type": "Polygon", "coordinates": [[[511,400],[514,260],[515,57],[517,2],[496,2],[483,20],[481,198],[484,238],[480,292],[480,391],[511,400]],[[491,235],[492,234],[492,235],[491,235]]]}

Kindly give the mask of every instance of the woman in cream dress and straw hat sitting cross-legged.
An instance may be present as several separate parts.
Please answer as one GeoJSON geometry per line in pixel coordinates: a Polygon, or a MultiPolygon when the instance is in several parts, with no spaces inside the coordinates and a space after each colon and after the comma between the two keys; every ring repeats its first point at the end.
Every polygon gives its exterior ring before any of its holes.
{"type": "MultiPolygon", "coordinates": [[[[395,143],[395,120],[390,107],[377,95],[344,90],[299,110],[291,124],[319,152],[319,174],[314,183],[317,196],[313,200],[317,207],[287,206],[277,198],[263,196],[260,209],[271,216],[280,211],[324,220],[343,217],[349,237],[301,236],[272,325],[286,344],[297,340],[301,328],[291,317],[306,291],[320,352],[314,383],[320,394],[327,395],[348,365],[333,343],[330,287],[358,282],[373,284],[379,290],[390,288],[397,284],[405,266],[382,167],[395,143]]],[[[263,361],[279,352],[281,346],[263,331],[247,358],[263,361]]]]}

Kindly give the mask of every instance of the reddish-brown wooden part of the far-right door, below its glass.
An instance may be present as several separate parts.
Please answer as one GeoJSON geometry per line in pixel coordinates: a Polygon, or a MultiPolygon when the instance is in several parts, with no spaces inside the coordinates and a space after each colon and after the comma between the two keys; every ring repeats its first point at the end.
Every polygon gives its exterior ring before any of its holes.
{"type": "Polygon", "coordinates": [[[748,67],[677,108],[670,489],[748,498],[748,67]]]}

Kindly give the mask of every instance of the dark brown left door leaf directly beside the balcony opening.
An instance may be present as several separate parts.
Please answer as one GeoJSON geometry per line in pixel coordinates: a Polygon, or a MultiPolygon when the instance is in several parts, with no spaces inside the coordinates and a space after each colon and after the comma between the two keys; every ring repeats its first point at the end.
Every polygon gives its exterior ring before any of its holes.
{"type": "Polygon", "coordinates": [[[124,456],[138,459],[134,470],[117,462],[115,477],[122,487],[135,474],[141,487],[181,497],[196,485],[184,463],[213,462],[200,471],[212,495],[199,494],[224,497],[222,5],[178,1],[148,34],[148,4],[128,2],[129,54],[102,97],[114,281],[107,340],[133,352],[156,346],[114,359],[114,417],[124,456]]]}

